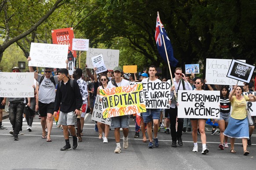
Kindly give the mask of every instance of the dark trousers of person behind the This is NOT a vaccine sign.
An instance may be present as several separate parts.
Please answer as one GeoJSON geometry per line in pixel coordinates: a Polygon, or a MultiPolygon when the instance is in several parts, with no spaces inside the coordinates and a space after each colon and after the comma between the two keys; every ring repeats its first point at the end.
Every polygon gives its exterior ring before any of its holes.
{"type": "Polygon", "coordinates": [[[22,113],[23,113],[24,103],[12,103],[9,105],[9,120],[14,130],[14,135],[18,135],[22,123],[22,113]]]}

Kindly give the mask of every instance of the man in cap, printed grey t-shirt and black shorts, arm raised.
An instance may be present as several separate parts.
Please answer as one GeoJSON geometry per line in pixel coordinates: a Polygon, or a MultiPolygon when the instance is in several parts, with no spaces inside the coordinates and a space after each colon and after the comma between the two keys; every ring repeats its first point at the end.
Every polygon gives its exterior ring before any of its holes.
{"type": "MultiPolygon", "coordinates": [[[[28,60],[31,60],[28,57],[28,60]]],[[[34,72],[33,67],[29,66],[29,72],[34,72]]],[[[53,124],[52,115],[55,101],[55,85],[58,82],[58,77],[51,77],[52,68],[44,68],[44,76],[34,72],[35,79],[39,82],[38,99],[36,110],[39,110],[41,116],[42,137],[46,138],[47,142],[51,142],[51,128],[53,124]],[[47,121],[46,121],[47,120],[47,121]],[[46,122],[48,133],[46,136],[46,122]]]]}

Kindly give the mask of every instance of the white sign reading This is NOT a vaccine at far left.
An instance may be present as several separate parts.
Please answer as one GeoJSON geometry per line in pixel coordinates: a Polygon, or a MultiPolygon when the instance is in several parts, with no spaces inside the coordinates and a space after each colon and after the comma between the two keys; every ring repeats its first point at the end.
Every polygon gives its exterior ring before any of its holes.
{"type": "Polygon", "coordinates": [[[34,97],[34,73],[0,72],[0,97],[34,97]]]}

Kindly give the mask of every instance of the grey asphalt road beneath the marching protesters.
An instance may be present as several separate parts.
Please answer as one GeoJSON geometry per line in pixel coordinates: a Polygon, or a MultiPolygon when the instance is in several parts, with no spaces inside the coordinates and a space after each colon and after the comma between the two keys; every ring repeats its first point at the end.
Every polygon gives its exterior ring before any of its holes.
{"type": "MultiPolygon", "coordinates": [[[[26,122],[23,122],[23,132],[19,141],[14,141],[9,134],[11,124],[9,119],[3,120],[3,125],[8,130],[0,130],[0,170],[137,170],[137,169],[177,169],[177,170],[241,170],[256,168],[256,133],[252,135],[252,146],[248,147],[250,154],[243,156],[241,139],[236,140],[235,150],[230,153],[230,148],[219,149],[219,135],[210,135],[211,128],[206,127],[207,146],[209,153],[201,154],[200,136],[198,136],[198,151],[192,152],[193,141],[191,132],[183,133],[183,146],[172,148],[171,135],[158,132],[160,146],[148,149],[148,142],[133,138],[135,126],[130,119],[129,147],[121,149],[121,153],[114,153],[115,140],[113,130],[110,131],[109,143],[102,143],[98,139],[98,132],[94,131],[94,122],[88,115],[84,125],[83,142],[79,142],[76,150],[60,151],[65,145],[63,134],[54,122],[51,139],[46,142],[41,138],[41,125],[37,117],[34,119],[32,132],[26,131],[26,122]]],[[[122,138],[122,135],[121,135],[122,138]]],[[[72,145],[72,138],[70,138],[72,145]]],[[[122,146],[122,140],[121,140],[122,146]]],[[[229,145],[230,146],[230,145],[229,145]]]]}

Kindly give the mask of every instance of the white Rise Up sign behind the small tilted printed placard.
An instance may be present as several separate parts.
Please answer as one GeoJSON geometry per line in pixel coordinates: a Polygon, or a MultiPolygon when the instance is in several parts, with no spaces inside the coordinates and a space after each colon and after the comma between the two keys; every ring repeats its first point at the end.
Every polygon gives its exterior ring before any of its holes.
{"type": "Polygon", "coordinates": [[[94,68],[91,57],[102,54],[104,63],[108,70],[113,70],[119,65],[119,50],[89,48],[86,52],[87,68],[94,68]]]}

